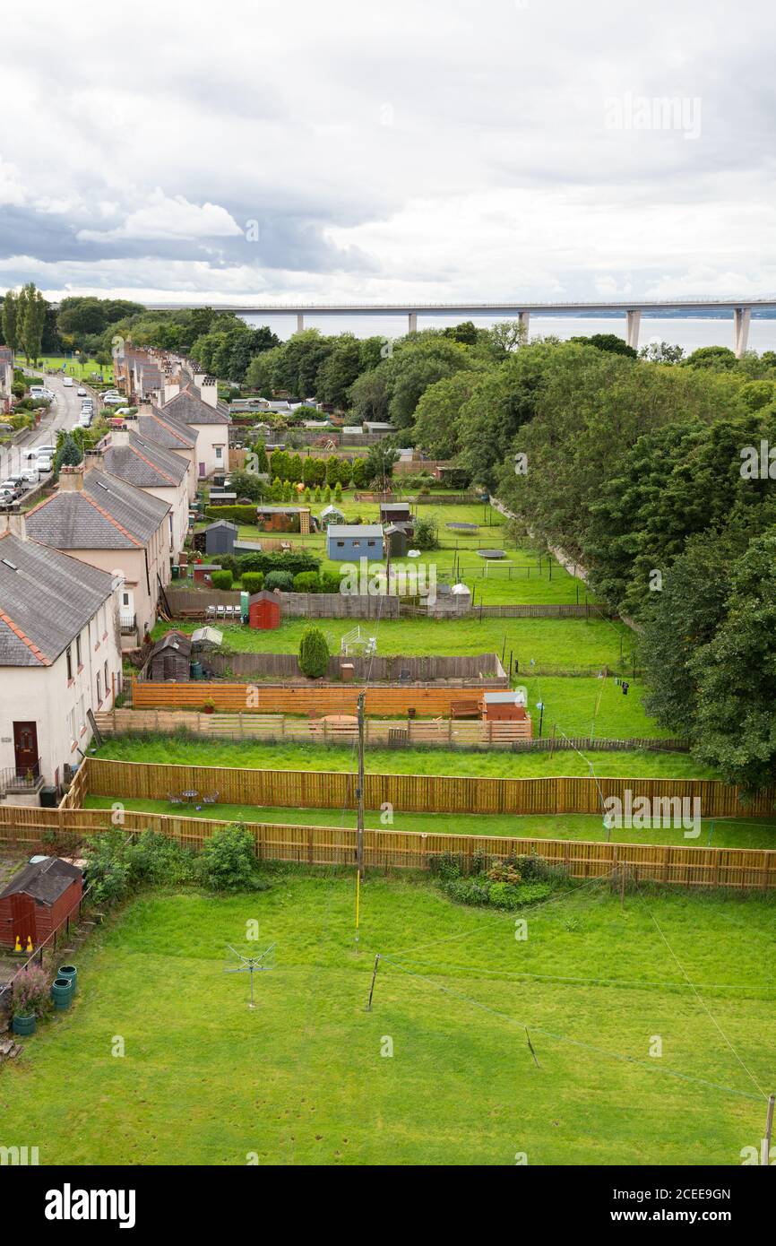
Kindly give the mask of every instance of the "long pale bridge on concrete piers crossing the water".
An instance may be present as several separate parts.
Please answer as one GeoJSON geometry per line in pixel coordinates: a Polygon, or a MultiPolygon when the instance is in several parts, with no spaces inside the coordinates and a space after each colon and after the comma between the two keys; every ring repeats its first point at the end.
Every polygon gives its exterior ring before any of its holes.
{"type": "MultiPolygon", "coordinates": [[[[174,312],[201,304],[151,303],[156,312],[174,312]]],[[[641,314],[649,312],[730,312],[732,349],[739,356],[746,351],[749,326],[755,308],[776,308],[776,299],[630,299],[594,303],[213,303],[215,312],[237,315],[296,316],[296,331],[304,329],[305,315],[406,315],[410,333],[417,331],[419,315],[507,316],[519,320],[528,330],[531,313],[574,314],[622,312],[625,316],[625,340],[634,350],[639,345],[641,314]]]]}

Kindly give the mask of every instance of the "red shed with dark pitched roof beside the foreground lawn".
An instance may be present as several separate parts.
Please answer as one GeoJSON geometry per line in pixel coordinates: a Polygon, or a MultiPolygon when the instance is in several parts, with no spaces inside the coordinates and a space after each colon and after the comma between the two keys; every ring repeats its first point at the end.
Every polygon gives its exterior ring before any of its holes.
{"type": "Polygon", "coordinates": [[[0,944],[15,947],[19,938],[37,947],[65,921],[83,891],[83,875],[60,857],[30,862],[0,891],[0,944]]]}

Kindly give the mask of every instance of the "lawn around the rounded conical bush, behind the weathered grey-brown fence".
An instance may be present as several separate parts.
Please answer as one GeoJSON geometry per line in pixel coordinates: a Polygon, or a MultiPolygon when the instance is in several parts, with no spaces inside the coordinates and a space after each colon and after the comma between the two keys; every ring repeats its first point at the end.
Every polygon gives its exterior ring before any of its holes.
{"type": "MultiPolygon", "coordinates": [[[[331,653],[339,653],[340,639],[355,627],[354,619],[318,619],[331,653]]],[[[497,653],[508,663],[509,653],[519,663],[518,682],[537,667],[597,674],[603,665],[620,667],[620,652],[627,658],[634,644],[633,632],[624,623],[607,619],[466,619],[400,618],[361,622],[365,635],[377,637],[379,654],[468,654],[497,653]]],[[[202,623],[176,622],[182,632],[193,632],[202,623]]],[[[219,623],[219,627],[222,624],[219,623]]],[[[223,625],[224,649],[242,653],[299,653],[301,633],[309,619],[285,619],[279,628],[262,632],[242,624],[223,625]]],[[[158,639],[168,623],[157,623],[158,639]]]]}

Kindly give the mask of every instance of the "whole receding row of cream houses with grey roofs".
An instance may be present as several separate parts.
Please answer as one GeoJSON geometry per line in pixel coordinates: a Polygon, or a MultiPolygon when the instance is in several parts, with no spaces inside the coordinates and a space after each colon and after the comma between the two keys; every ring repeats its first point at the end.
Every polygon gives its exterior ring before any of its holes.
{"type": "Polygon", "coordinates": [[[198,481],[229,466],[212,379],[132,349],[116,364],[137,419],[0,516],[0,801],[37,802],[80,764],[156,622],[198,481]]]}

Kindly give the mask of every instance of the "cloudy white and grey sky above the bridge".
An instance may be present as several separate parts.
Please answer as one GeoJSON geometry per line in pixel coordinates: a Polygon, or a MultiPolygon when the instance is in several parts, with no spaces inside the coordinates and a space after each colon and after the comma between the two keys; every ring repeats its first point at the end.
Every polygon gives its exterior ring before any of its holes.
{"type": "Polygon", "coordinates": [[[0,289],[776,294],[766,0],[25,0],[0,289]]]}

